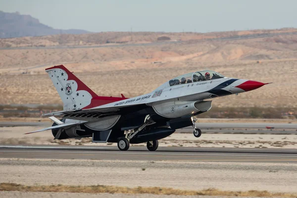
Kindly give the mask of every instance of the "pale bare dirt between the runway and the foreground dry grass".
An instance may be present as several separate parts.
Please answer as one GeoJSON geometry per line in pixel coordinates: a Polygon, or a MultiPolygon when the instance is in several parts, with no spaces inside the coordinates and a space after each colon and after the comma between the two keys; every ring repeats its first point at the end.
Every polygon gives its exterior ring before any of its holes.
{"type": "Polygon", "coordinates": [[[296,193],[296,170],[273,163],[0,158],[0,183],[296,193]]]}

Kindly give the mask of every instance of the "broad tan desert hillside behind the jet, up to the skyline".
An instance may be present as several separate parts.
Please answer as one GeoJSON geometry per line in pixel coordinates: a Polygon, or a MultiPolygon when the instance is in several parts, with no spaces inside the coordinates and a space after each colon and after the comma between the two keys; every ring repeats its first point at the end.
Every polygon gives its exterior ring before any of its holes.
{"type": "Polygon", "coordinates": [[[122,93],[135,97],[151,92],[175,76],[209,69],[228,77],[273,82],[250,93],[229,96],[228,100],[215,99],[216,106],[296,107],[296,32],[296,29],[283,29],[210,36],[209,33],[135,33],[133,41],[126,41],[131,35],[121,33],[117,36],[110,33],[109,37],[87,34],[69,35],[69,38],[56,35],[1,39],[0,104],[60,104],[45,68],[64,64],[101,96],[122,93]],[[261,37],[245,37],[257,34],[261,37]],[[92,35],[97,40],[90,39],[92,35]],[[157,42],[160,36],[172,40],[157,42]],[[111,38],[125,43],[104,44],[111,38]],[[37,40],[56,44],[36,47],[37,40]],[[75,43],[76,40],[83,40],[83,45],[75,43]],[[30,42],[33,44],[29,45],[30,42]],[[7,43],[13,45],[7,48],[7,43]]]}

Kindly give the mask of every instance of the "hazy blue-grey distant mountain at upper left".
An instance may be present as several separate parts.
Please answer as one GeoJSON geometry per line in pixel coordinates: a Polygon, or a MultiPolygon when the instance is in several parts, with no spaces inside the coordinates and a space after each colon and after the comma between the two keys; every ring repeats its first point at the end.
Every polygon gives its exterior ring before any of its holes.
{"type": "Polygon", "coordinates": [[[0,11],[0,38],[46,36],[55,34],[84,34],[85,30],[59,30],[53,29],[39,22],[30,15],[19,12],[7,13],[0,11]]]}

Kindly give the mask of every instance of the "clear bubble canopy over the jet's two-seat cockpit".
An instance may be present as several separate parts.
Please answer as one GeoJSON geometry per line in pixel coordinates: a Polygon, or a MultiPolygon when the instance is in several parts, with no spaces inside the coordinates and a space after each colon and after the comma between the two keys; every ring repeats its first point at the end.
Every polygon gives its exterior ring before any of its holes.
{"type": "Polygon", "coordinates": [[[204,71],[197,71],[194,73],[178,76],[174,79],[171,79],[169,81],[169,85],[174,86],[174,85],[181,85],[181,84],[187,84],[187,83],[193,83],[193,82],[199,82],[199,81],[214,80],[219,78],[224,78],[224,76],[215,71],[204,70],[204,71]]]}

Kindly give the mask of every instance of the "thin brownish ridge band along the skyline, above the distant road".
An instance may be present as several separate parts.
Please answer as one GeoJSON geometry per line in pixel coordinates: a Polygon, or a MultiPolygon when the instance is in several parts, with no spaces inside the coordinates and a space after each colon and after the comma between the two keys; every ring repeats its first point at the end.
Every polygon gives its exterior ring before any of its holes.
{"type": "MultiPolygon", "coordinates": [[[[15,47],[52,47],[52,46],[94,46],[109,45],[121,43],[151,43],[158,40],[159,37],[169,37],[173,41],[191,41],[216,39],[223,37],[242,37],[251,35],[267,35],[296,33],[296,28],[282,28],[271,30],[250,30],[250,31],[231,31],[231,32],[209,32],[209,33],[165,33],[165,32],[101,32],[80,35],[49,35],[42,37],[22,37],[0,40],[0,48],[15,47]]],[[[284,42],[283,39],[277,39],[277,42],[284,42]]]]}

